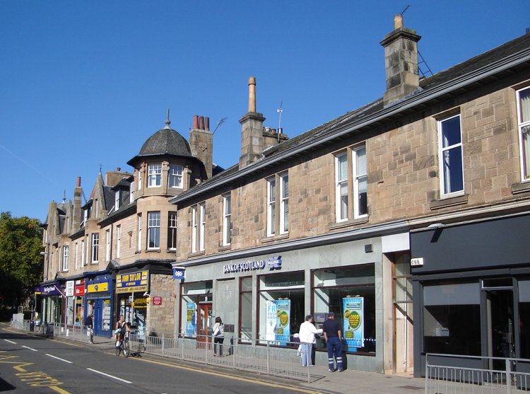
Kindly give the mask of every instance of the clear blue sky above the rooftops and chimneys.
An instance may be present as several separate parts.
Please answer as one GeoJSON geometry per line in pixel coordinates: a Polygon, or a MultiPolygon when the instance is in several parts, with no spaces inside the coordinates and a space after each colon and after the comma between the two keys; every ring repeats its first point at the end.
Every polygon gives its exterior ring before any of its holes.
{"type": "Polygon", "coordinates": [[[379,42],[404,13],[433,73],[525,33],[530,0],[0,0],[0,212],[45,221],[89,195],[171,127],[210,117],[213,161],[240,156],[239,120],[257,78],[264,124],[294,137],[384,93],[379,42]]]}

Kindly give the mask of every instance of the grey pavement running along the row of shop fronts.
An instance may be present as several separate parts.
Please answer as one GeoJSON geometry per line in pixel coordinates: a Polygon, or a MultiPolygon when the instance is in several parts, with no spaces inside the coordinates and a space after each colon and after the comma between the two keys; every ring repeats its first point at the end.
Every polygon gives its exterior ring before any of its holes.
{"type": "MultiPolygon", "coordinates": [[[[2,328],[6,328],[2,325],[2,328]]],[[[57,337],[56,340],[66,340],[57,337]]],[[[102,352],[114,352],[114,338],[94,337],[94,343],[76,342],[86,347],[93,347],[102,352]]],[[[163,361],[167,364],[185,365],[202,370],[223,371],[225,375],[242,376],[256,381],[266,381],[283,386],[292,387],[293,390],[302,393],[322,394],[353,394],[353,393],[378,393],[378,394],[413,394],[425,392],[425,379],[414,378],[412,373],[385,375],[383,373],[364,372],[348,370],[343,372],[329,372],[327,366],[316,365],[311,368],[312,382],[295,381],[293,379],[281,379],[272,376],[264,376],[257,373],[245,373],[243,371],[232,371],[219,366],[204,366],[189,361],[162,358],[151,354],[140,354],[145,359],[163,361]]],[[[131,355],[134,357],[134,354],[131,355]]]]}

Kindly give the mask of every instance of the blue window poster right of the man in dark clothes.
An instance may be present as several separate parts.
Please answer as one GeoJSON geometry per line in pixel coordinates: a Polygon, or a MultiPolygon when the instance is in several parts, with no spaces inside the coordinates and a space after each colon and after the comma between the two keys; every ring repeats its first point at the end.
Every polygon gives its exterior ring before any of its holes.
{"type": "Polygon", "coordinates": [[[364,301],[364,297],[342,299],[344,311],[343,335],[348,344],[348,352],[356,352],[358,347],[364,346],[364,301]]]}

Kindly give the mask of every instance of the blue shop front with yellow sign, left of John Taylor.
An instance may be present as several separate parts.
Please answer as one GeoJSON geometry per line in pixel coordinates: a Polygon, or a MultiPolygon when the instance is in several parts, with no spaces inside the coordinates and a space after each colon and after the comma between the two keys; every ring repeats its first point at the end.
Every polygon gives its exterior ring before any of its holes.
{"type": "Polygon", "coordinates": [[[93,313],[94,335],[112,335],[112,277],[110,274],[96,274],[85,279],[85,318],[93,313]]]}

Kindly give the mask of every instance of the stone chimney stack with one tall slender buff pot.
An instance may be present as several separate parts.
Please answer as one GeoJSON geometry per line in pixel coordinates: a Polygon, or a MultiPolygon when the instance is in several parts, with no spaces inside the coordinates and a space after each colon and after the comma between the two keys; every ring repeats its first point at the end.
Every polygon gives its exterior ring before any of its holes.
{"type": "Polygon", "coordinates": [[[249,78],[249,112],[243,115],[241,124],[240,168],[261,158],[264,149],[263,114],[256,112],[256,78],[249,78]]]}

